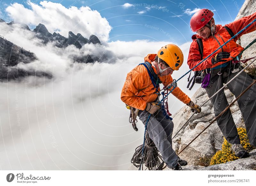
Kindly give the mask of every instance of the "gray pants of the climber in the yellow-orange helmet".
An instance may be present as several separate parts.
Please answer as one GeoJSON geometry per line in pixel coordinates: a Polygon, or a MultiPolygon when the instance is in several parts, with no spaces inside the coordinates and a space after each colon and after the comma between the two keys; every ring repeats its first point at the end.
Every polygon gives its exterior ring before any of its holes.
{"type": "MultiPolygon", "coordinates": [[[[138,116],[145,125],[149,112],[140,110],[138,116]]],[[[173,122],[167,119],[163,111],[160,110],[157,114],[152,114],[149,118],[147,131],[150,139],[153,140],[158,151],[161,153],[167,167],[175,167],[178,163],[178,156],[172,149],[173,122]]]]}

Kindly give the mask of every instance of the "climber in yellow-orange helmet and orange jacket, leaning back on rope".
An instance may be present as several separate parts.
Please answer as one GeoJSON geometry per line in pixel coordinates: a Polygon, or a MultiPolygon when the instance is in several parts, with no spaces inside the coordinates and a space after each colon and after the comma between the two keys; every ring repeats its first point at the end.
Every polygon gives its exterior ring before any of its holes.
{"type": "MultiPolygon", "coordinates": [[[[148,54],[142,63],[127,74],[121,93],[121,100],[135,109],[139,109],[139,119],[146,124],[149,137],[160,151],[164,162],[173,170],[182,170],[187,162],[180,159],[172,149],[173,122],[165,117],[159,105],[159,83],[167,87],[173,82],[171,74],[179,70],[183,63],[183,53],[174,44],[162,47],[157,54],[148,54]]],[[[191,107],[192,111],[201,112],[201,108],[176,87],[172,94],[191,107]]]]}

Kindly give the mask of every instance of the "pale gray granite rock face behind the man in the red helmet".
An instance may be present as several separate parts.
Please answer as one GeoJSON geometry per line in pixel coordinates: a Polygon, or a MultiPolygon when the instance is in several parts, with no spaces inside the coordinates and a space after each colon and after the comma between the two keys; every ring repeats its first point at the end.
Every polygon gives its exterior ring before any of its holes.
{"type": "MultiPolygon", "coordinates": [[[[240,12],[238,13],[236,19],[250,15],[256,10],[256,4],[254,0],[246,0],[242,6],[240,12]]],[[[242,47],[247,46],[253,39],[256,38],[256,31],[243,35],[238,42],[241,43],[242,47]]],[[[243,54],[243,58],[249,58],[256,56],[256,44],[251,46],[243,54]]],[[[228,103],[231,103],[235,97],[226,88],[225,94],[228,103]]],[[[202,105],[205,101],[209,99],[206,91],[203,88],[199,88],[194,96],[191,98],[198,105],[202,105]]],[[[242,114],[239,110],[238,104],[235,103],[230,107],[233,115],[233,119],[236,123],[236,127],[243,127],[244,121],[242,119],[242,114]]],[[[176,112],[173,116],[174,131],[173,136],[181,128],[181,126],[188,120],[192,115],[192,112],[188,106],[184,106],[180,111],[176,112]]],[[[213,112],[213,106],[211,101],[208,101],[203,107],[202,112],[195,114],[191,120],[184,126],[179,134],[173,139],[173,148],[176,152],[181,151],[194,137],[196,137],[213,119],[215,118],[213,112]]],[[[214,122],[208,129],[204,131],[194,142],[192,142],[187,149],[185,149],[179,156],[188,161],[188,165],[199,165],[202,159],[210,161],[210,158],[216,153],[216,151],[221,150],[221,144],[223,142],[223,135],[218,127],[217,123],[214,122]]],[[[255,160],[254,160],[255,161],[255,160]]],[[[233,164],[233,163],[231,163],[233,164]]],[[[217,166],[215,166],[217,167],[217,166]]],[[[203,170],[203,169],[202,169],[203,170]]],[[[213,169],[205,169],[213,170],[213,169]]],[[[222,170],[222,169],[220,169],[222,170]]],[[[233,170],[233,169],[228,169],[233,170]]]]}

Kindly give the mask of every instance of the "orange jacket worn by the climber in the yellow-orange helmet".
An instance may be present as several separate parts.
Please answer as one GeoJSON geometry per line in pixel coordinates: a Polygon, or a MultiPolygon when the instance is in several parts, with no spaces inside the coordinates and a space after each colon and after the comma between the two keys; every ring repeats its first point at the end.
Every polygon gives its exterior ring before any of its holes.
{"type": "MultiPolygon", "coordinates": [[[[155,57],[156,54],[148,54],[144,60],[151,63],[154,61],[155,57]]],[[[156,73],[156,68],[154,66],[152,66],[152,68],[156,73]]],[[[159,79],[163,82],[164,86],[168,86],[173,81],[170,74],[160,76],[159,79]]],[[[160,88],[158,88],[158,91],[160,91],[160,88]]],[[[155,92],[156,88],[154,88],[152,81],[150,80],[146,67],[143,65],[138,65],[127,74],[124,87],[121,92],[121,100],[125,104],[134,108],[145,110],[147,103],[156,100],[157,94],[155,94],[155,92]]],[[[172,91],[172,94],[185,104],[190,102],[190,98],[184,92],[182,92],[179,87],[176,87],[172,91]]]]}

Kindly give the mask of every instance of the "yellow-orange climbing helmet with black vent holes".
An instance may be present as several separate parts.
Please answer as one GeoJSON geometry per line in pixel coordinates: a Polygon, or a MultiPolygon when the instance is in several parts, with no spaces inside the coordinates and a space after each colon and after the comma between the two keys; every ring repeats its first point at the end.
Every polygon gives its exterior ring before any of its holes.
{"type": "Polygon", "coordinates": [[[167,44],[157,52],[158,58],[164,60],[172,70],[179,70],[183,63],[183,53],[175,44],[167,44]]]}

